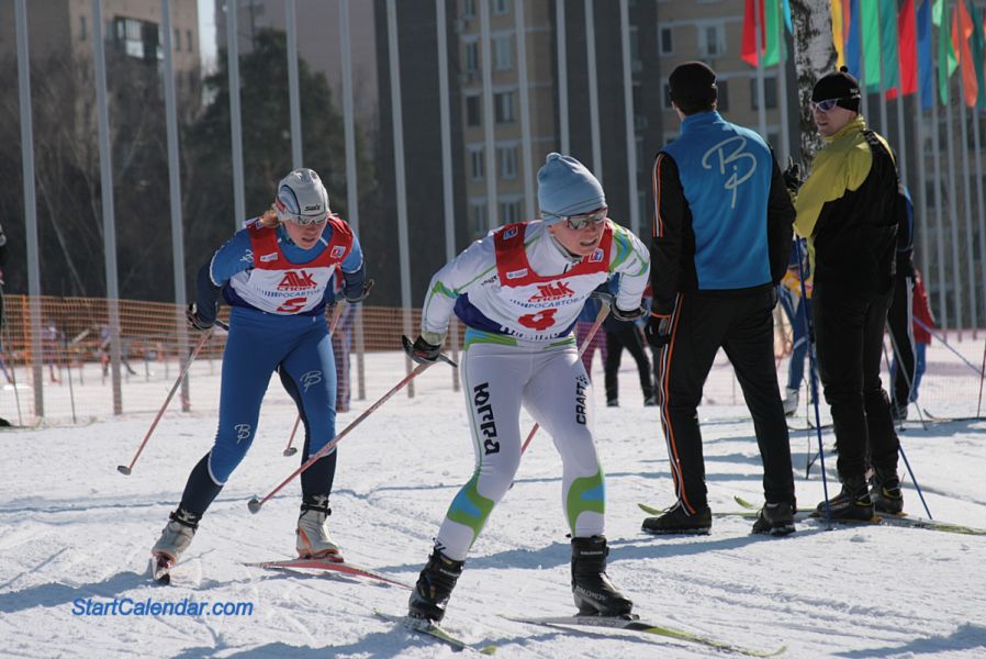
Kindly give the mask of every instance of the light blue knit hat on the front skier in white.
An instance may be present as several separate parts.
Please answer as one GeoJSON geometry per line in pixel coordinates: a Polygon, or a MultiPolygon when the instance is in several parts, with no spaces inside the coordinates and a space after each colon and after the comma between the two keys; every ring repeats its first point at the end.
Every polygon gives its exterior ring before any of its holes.
{"type": "Polygon", "coordinates": [[[582,163],[550,153],[538,170],[538,205],[545,222],[589,213],[606,205],[603,186],[582,163]]]}

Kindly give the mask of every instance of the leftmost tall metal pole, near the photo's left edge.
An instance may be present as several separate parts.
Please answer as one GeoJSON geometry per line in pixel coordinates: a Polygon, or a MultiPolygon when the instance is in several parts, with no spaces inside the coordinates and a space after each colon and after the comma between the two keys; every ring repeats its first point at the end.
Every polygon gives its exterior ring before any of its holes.
{"type": "MultiPolygon", "coordinates": [[[[31,309],[31,345],[41,345],[41,259],[37,247],[37,197],[34,182],[34,121],[31,115],[31,56],[27,48],[27,2],[16,0],[18,96],[21,112],[21,175],[24,187],[24,230],[27,243],[27,295],[31,309]]],[[[8,345],[8,348],[10,346],[8,345]]],[[[31,350],[34,372],[34,415],[44,416],[44,373],[40,349],[31,350]]],[[[11,369],[13,364],[11,364],[11,369]]],[[[14,393],[18,393],[14,382],[14,393]]],[[[20,399],[19,399],[20,400],[20,399]]],[[[18,405],[18,414],[20,414],[18,405]]]]}

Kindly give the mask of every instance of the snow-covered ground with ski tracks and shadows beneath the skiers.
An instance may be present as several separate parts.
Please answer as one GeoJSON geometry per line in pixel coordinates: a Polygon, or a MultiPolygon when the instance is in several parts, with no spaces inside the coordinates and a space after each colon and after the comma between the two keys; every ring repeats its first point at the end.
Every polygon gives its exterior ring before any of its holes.
{"type": "MultiPolygon", "coordinates": [[[[368,401],[354,401],[352,411],[340,415],[340,427],[400,378],[403,359],[378,356],[374,368],[384,377],[374,378],[368,401]]],[[[609,574],[642,618],[744,647],[786,645],[787,657],[986,656],[986,536],[884,525],[826,530],[806,522],[793,536],[770,538],[750,535],[751,522],[738,516],[716,518],[704,537],[642,534],[645,514],[637,503],[670,505],[672,489],[657,414],[641,405],[631,368],[625,365],[624,406],[596,405],[595,423],[608,485],[609,574]]],[[[596,381],[601,384],[598,376],[596,381]]],[[[416,380],[415,398],[394,396],[339,445],[330,523],[352,562],[405,582],[416,579],[449,502],[472,471],[461,393],[450,382],[447,367],[429,369],[416,380]]],[[[706,470],[717,512],[739,510],[735,495],[761,498],[752,424],[742,406],[728,404],[731,382],[728,369],[714,369],[707,402],[718,404],[699,410],[707,422],[706,470]]],[[[280,395],[277,387],[271,395],[280,395]]],[[[933,391],[934,381],[927,387],[933,391]]],[[[215,395],[214,388],[197,391],[215,395]]],[[[206,400],[197,409],[213,404],[206,400]]],[[[139,414],[0,434],[0,656],[452,654],[373,615],[374,610],[402,614],[406,591],[242,565],[293,554],[298,483],[256,515],[246,506],[298,465],[298,457],[282,456],[294,421],[287,404],[265,409],[258,438],[203,521],[172,585],[152,584],[148,550],[189,470],[209,449],[215,420],[203,412],[169,413],[133,474],[117,473],[150,418],[139,414]],[[208,602],[211,614],[78,615],[87,601],[94,606],[114,599],[208,602]],[[253,612],[216,615],[215,603],[249,604],[253,612]]],[[[529,425],[525,417],[523,428],[529,425]]],[[[825,438],[831,445],[829,433],[825,438]]],[[[933,515],[986,528],[986,422],[922,429],[911,421],[901,440],[933,515]]],[[[815,446],[806,433],[792,433],[803,506],[822,496],[817,463],[805,480],[806,455],[815,446]]],[[[834,456],[826,458],[832,492],[834,456]]],[[[670,639],[565,633],[498,615],[574,612],[560,472],[550,437],[541,433],[516,487],[473,547],[447,628],[471,643],[496,644],[503,657],[719,655],[670,639]]],[[[909,477],[905,496],[906,509],[923,516],[909,477]]]]}

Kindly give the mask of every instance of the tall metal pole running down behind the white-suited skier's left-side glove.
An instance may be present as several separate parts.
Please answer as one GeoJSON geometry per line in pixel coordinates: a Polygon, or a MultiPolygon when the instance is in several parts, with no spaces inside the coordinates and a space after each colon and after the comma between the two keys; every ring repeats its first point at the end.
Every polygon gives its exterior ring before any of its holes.
{"type": "MultiPolygon", "coordinates": [[[[397,52],[396,0],[386,0],[386,45],[390,55],[391,123],[394,131],[394,178],[397,194],[397,253],[401,268],[401,306],[404,316],[404,334],[411,336],[411,250],[407,236],[407,190],[404,179],[404,113],[401,100],[401,69],[397,52]]],[[[405,358],[407,373],[411,359],[405,358]]],[[[408,381],[407,395],[414,396],[414,386],[408,381]]]]}

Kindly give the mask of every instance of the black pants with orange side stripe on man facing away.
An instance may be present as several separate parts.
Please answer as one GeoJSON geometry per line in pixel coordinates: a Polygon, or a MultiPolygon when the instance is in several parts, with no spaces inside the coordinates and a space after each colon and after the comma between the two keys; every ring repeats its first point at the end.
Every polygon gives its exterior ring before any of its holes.
{"type": "Polygon", "coordinates": [[[795,502],[791,445],[774,362],[772,310],[770,289],[677,297],[671,340],[660,350],[658,399],[675,494],[688,513],[708,505],[697,407],[720,347],[732,362],[753,417],[764,499],[795,502]]]}

